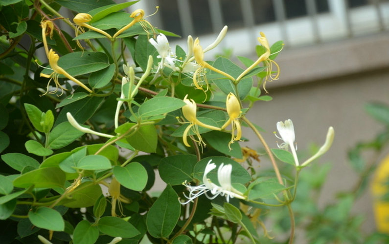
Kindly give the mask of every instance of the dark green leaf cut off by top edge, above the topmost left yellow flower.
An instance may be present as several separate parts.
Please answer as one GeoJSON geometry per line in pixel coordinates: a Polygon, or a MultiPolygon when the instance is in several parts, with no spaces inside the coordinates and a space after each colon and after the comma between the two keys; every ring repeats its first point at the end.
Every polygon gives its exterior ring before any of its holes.
{"type": "Polygon", "coordinates": [[[70,10],[73,10],[77,13],[88,13],[97,7],[103,7],[115,3],[112,0],[56,0],[56,2],[61,6],[69,8],[70,10]]]}

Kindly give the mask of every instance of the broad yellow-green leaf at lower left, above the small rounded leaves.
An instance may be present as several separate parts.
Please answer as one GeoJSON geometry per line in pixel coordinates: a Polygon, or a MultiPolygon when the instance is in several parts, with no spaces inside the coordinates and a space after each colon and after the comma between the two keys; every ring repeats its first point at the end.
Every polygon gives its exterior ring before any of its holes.
{"type": "Polygon", "coordinates": [[[57,167],[39,168],[27,172],[13,181],[15,187],[55,188],[64,187],[65,172],[57,167]]]}

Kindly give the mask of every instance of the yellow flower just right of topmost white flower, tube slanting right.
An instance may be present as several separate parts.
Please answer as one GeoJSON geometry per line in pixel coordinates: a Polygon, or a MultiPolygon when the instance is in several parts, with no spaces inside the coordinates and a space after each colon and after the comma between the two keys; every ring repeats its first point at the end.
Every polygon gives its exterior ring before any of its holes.
{"type": "Polygon", "coordinates": [[[204,61],[204,51],[203,51],[203,48],[200,46],[199,38],[196,38],[196,40],[194,41],[193,53],[194,53],[195,61],[200,65],[200,67],[193,74],[193,84],[197,89],[204,90],[203,86],[199,85],[199,82],[197,81],[198,77],[200,77],[206,83],[205,92],[208,90],[208,81],[206,80],[206,76],[205,76],[205,69],[206,68],[210,69],[212,71],[215,71],[216,73],[219,73],[221,75],[224,75],[225,77],[227,77],[231,81],[235,81],[235,79],[232,76],[230,76],[229,74],[211,66],[209,63],[204,61]]]}

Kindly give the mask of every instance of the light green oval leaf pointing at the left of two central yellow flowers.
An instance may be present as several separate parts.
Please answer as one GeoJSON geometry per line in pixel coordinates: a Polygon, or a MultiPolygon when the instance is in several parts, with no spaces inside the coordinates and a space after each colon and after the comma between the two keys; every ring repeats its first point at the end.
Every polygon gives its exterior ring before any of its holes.
{"type": "Polygon", "coordinates": [[[139,107],[138,113],[140,117],[150,117],[160,114],[165,114],[182,108],[186,105],[183,100],[172,97],[155,97],[146,102],[139,107]]]}

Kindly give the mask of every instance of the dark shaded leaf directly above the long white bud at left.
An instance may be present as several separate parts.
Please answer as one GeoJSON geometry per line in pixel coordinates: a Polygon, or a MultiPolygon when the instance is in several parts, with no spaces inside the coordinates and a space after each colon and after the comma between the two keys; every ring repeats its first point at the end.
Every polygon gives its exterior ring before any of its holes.
{"type": "Polygon", "coordinates": [[[54,123],[54,126],[62,122],[67,122],[68,118],[66,113],[70,112],[74,119],[82,124],[89,120],[92,117],[97,108],[104,101],[104,98],[101,97],[86,97],[84,99],[72,102],[65,106],[59,113],[57,120],[54,123]]]}

